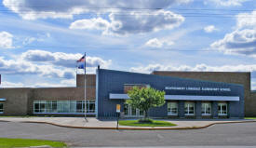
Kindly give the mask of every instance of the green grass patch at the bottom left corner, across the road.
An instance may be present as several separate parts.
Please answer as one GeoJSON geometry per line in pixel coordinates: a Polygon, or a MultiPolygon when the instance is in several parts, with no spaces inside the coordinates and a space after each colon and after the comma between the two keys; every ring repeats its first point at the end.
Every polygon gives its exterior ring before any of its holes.
{"type": "Polygon", "coordinates": [[[29,147],[29,146],[42,146],[42,145],[49,145],[51,147],[67,147],[67,145],[62,141],[42,141],[42,140],[0,138],[1,148],[29,147]]]}

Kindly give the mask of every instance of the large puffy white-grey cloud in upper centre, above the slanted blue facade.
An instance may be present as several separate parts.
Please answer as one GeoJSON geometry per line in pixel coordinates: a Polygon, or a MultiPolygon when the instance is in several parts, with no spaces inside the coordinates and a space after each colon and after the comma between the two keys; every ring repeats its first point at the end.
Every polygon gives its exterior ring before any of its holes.
{"type": "Polygon", "coordinates": [[[70,28],[102,30],[102,34],[143,34],[172,29],[184,21],[181,15],[165,10],[154,11],[147,15],[141,15],[137,12],[128,12],[125,15],[111,13],[109,19],[110,21],[101,18],[75,20],[70,28]]]}

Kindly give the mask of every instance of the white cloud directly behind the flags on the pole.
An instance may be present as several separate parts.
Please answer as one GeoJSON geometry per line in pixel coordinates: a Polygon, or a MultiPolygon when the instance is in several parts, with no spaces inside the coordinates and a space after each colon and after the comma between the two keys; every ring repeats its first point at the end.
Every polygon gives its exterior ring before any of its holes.
{"type": "MultiPolygon", "coordinates": [[[[35,61],[35,62],[47,62],[56,66],[62,66],[67,68],[74,68],[75,63],[83,55],[79,53],[63,53],[63,52],[49,52],[46,50],[28,50],[21,54],[21,59],[25,61],[35,61]]],[[[111,64],[111,60],[104,61],[99,57],[86,58],[88,67],[97,67],[101,65],[103,68],[107,68],[111,64]]]]}

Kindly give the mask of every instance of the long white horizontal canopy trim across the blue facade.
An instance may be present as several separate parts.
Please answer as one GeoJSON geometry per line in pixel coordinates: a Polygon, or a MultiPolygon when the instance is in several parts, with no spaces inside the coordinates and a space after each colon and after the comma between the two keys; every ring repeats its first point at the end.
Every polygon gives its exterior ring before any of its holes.
{"type": "MultiPolygon", "coordinates": [[[[128,94],[109,94],[111,100],[128,100],[128,94]]],[[[191,96],[191,95],[165,95],[168,101],[239,101],[239,96],[191,96]]]]}

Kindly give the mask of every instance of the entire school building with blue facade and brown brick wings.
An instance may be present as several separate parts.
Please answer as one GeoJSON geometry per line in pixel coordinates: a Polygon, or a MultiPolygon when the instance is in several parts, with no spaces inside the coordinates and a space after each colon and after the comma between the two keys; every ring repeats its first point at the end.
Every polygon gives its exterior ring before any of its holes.
{"type": "Polygon", "coordinates": [[[116,104],[122,117],[144,113],[126,104],[132,87],[166,92],[166,103],[149,112],[159,118],[243,118],[256,116],[256,93],[250,73],[154,71],[139,74],[98,68],[76,75],[76,87],[0,88],[0,115],[63,115],[112,118],[116,104]]]}

